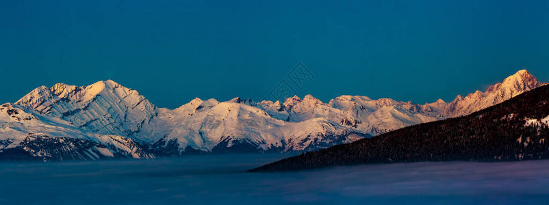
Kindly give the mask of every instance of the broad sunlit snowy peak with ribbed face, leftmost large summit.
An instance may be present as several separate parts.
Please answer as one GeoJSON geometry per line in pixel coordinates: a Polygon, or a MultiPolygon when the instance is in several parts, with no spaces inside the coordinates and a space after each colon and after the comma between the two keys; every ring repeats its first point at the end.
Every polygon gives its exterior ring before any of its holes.
{"type": "Polygon", "coordinates": [[[40,86],[16,104],[102,135],[133,135],[157,115],[156,107],[144,96],[111,80],[82,87],[40,86]]]}

